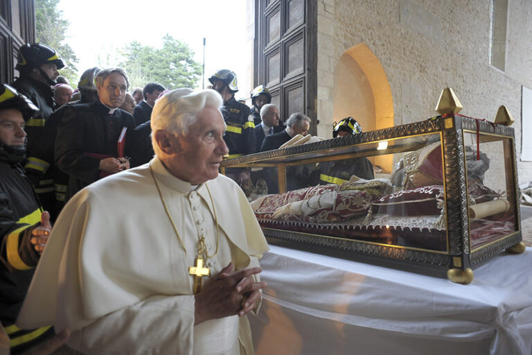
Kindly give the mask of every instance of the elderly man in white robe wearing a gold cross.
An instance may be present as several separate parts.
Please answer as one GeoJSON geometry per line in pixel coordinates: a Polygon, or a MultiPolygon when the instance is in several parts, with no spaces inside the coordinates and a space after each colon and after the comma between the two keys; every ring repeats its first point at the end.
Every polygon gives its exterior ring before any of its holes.
{"type": "Polygon", "coordinates": [[[20,327],[70,329],[85,354],[253,354],[247,313],[268,246],[244,193],[218,173],[221,105],[211,89],[157,101],[156,157],[64,207],[20,327]]]}

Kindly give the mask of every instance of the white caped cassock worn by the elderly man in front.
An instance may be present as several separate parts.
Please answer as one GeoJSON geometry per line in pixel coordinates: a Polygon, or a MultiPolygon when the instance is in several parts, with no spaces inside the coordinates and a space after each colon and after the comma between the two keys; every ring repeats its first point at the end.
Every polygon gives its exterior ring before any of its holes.
{"type": "MultiPolygon", "coordinates": [[[[258,266],[268,246],[244,193],[223,175],[205,184],[220,225],[218,253],[207,261],[211,277],[229,261],[237,269],[258,266]]],[[[175,178],[156,157],[76,194],[53,227],[19,327],[71,329],[69,346],[87,354],[253,354],[246,317],[194,326],[188,267],[194,266],[199,234],[209,255],[217,249],[205,184],[175,178]]]]}

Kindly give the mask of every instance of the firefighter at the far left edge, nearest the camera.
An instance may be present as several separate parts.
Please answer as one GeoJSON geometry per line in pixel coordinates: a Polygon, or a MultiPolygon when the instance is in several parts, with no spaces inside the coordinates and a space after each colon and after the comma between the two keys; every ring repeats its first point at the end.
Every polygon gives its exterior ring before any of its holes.
{"type": "Polygon", "coordinates": [[[21,162],[26,153],[24,124],[39,109],[9,85],[0,87],[0,319],[11,338],[11,354],[20,354],[53,336],[51,327],[19,329],[15,320],[51,230],[21,162]]]}

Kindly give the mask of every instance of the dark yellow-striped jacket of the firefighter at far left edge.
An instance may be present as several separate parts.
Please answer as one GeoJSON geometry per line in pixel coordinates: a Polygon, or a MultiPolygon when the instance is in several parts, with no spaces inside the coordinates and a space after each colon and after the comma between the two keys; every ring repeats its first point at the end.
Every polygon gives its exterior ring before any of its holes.
{"type": "Polygon", "coordinates": [[[19,161],[0,148],[0,319],[17,344],[11,354],[19,354],[53,334],[51,327],[21,330],[15,325],[39,260],[30,238],[42,214],[19,161]]]}

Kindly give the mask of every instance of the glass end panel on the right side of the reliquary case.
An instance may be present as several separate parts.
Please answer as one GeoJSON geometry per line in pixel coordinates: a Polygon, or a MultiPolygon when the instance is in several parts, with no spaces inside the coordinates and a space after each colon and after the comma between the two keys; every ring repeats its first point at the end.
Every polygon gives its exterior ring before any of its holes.
{"type": "Polygon", "coordinates": [[[471,248],[517,230],[513,146],[507,137],[464,133],[471,248]]]}

